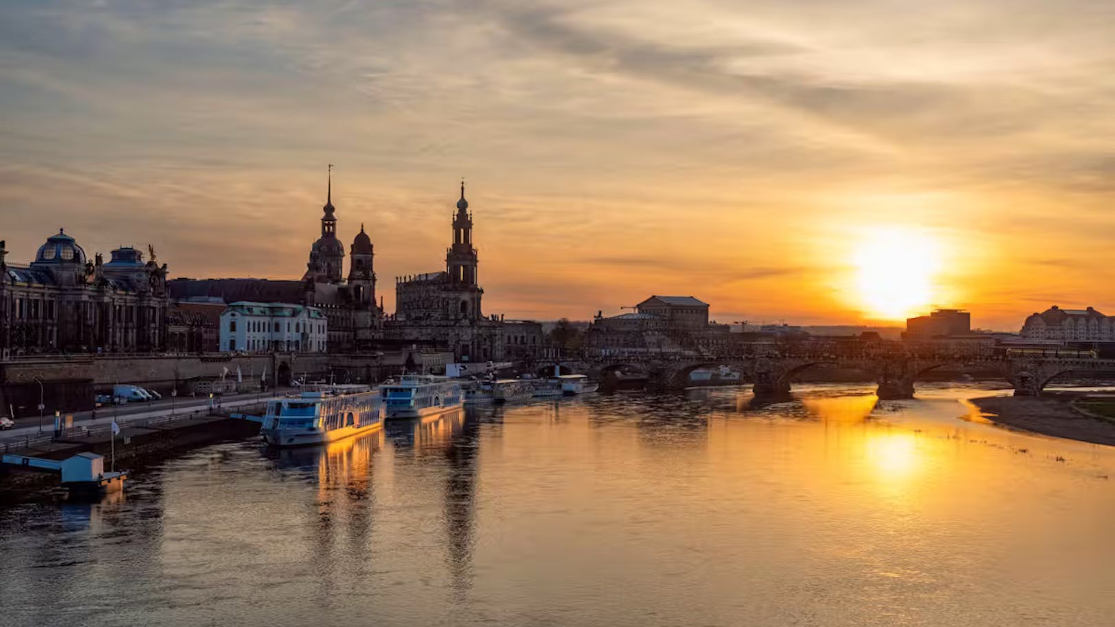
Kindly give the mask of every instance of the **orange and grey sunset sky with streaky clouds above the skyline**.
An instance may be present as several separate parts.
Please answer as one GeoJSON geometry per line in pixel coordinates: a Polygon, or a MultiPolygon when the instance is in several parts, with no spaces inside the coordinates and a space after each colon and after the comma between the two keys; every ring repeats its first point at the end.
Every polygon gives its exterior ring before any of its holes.
{"type": "Polygon", "coordinates": [[[1113,32],[1111,0],[6,1],[0,239],[299,278],[333,163],[389,311],[465,176],[488,314],[1115,314],[1113,32]]]}

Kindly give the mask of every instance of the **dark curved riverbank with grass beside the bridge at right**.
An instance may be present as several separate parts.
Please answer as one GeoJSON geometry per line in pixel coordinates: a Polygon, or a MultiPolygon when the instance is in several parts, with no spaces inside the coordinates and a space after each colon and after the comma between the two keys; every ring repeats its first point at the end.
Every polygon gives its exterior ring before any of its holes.
{"type": "Polygon", "coordinates": [[[1058,392],[1044,396],[988,396],[971,403],[996,423],[1054,437],[1115,446],[1115,419],[1082,411],[1087,393],[1058,392]]]}

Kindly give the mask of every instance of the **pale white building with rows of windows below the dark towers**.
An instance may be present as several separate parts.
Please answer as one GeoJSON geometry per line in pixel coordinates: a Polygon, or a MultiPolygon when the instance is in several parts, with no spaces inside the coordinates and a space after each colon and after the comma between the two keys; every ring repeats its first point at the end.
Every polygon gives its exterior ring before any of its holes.
{"type": "Polygon", "coordinates": [[[316,307],[284,302],[233,302],[221,312],[222,351],[324,353],[329,329],[316,307]]]}

